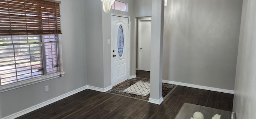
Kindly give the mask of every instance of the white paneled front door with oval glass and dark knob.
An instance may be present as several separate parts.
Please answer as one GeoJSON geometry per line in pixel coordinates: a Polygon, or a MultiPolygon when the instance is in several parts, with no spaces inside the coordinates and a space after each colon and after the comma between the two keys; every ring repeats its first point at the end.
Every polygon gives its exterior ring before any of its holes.
{"type": "Polygon", "coordinates": [[[111,72],[112,86],[129,77],[129,18],[112,15],[111,19],[111,72]]]}

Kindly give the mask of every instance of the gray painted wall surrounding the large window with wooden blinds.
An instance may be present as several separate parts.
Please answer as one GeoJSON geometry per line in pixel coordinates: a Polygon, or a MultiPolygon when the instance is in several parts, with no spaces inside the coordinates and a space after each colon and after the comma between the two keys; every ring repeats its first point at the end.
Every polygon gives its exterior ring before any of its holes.
{"type": "Polygon", "coordinates": [[[60,78],[0,93],[0,118],[87,85],[84,0],[60,0],[63,69],[60,78]],[[45,92],[45,86],[49,91],[45,92]]]}

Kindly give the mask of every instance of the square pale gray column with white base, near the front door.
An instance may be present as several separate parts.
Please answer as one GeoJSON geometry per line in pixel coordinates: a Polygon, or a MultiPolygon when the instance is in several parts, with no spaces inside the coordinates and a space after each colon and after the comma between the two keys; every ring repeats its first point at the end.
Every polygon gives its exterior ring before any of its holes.
{"type": "Polygon", "coordinates": [[[152,0],[150,98],[148,102],[162,103],[162,59],[164,33],[164,0],[152,0]]]}

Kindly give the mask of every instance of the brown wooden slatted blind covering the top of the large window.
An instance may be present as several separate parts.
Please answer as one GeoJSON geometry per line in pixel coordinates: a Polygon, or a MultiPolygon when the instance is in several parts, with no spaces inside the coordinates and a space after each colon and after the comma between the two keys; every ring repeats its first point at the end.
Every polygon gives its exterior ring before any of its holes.
{"type": "Polygon", "coordinates": [[[0,35],[43,34],[61,34],[58,2],[0,0],[0,35]]]}

